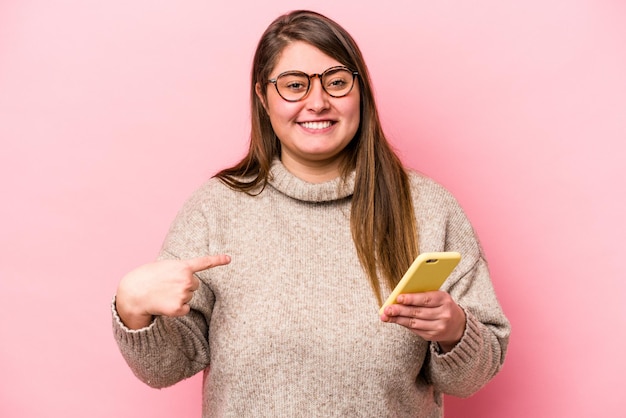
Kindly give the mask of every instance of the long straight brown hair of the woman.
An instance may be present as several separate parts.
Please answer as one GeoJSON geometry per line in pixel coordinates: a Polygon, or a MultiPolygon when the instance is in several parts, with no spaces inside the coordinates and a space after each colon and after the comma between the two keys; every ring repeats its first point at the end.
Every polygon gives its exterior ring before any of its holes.
{"type": "MultiPolygon", "coordinates": [[[[267,184],[274,158],[280,157],[269,116],[255,86],[266,85],[280,52],[304,41],[359,73],[360,126],[347,148],[342,176],[355,171],[350,215],[352,239],[372,289],[382,304],[382,275],[390,288],[400,280],[418,253],[417,227],[406,171],[383,133],[369,72],[352,37],[336,22],[311,11],[280,16],[266,29],[254,55],[250,103],[252,128],[248,154],[216,177],[245,193],[259,193],[267,184]]],[[[267,91],[262,89],[262,91],[267,91]]]]}

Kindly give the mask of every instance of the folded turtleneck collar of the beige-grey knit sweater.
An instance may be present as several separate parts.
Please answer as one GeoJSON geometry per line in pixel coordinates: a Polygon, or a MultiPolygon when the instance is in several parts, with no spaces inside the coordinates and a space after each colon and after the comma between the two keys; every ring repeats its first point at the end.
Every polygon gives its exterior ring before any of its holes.
{"type": "Polygon", "coordinates": [[[309,183],[293,175],[279,159],[272,162],[269,184],[279,192],[305,202],[330,202],[354,193],[354,171],[345,182],[341,177],[324,183],[309,183]]]}

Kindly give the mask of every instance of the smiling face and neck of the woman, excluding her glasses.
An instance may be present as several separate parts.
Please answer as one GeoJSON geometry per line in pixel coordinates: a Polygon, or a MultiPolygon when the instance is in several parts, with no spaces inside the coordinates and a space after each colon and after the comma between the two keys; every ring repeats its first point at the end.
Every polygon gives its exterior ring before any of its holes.
{"type": "MultiPolygon", "coordinates": [[[[270,78],[293,70],[321,74],[328,68],[341,65],[316,47],[297,41],[282,50],[270,78]]],[[[257,84],[256,93],[281,143],[281,161],[285,167],[312,183],[339,176],[346,146],[359,129],[358,80],[350,93],[337,98],[322,89],[318,77],[311,80],[308,95],[298,102],[281,98],[271,83],[257,84]]]]}

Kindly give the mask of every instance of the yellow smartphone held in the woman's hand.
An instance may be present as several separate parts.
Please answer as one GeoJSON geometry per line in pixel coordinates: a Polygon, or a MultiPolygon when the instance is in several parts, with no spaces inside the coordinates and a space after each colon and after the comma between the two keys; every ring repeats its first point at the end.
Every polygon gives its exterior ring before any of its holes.
{"type": "Polygon", "coordinates": [[[396,298],[401,293],[439,290],[459,261],[461,261],[461,254],[453,251],[418,255],[378,313],[382,315],[387,306],[396,303],[396,298]]]}

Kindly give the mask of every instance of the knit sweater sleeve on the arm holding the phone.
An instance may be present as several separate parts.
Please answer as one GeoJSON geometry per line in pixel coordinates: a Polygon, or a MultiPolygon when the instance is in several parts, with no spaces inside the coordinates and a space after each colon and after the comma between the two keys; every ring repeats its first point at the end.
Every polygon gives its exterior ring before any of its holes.
{"type": "Polygon", "coordinates": [[[459,397],[474,394],[502,367],[510,324],[497,300],[488,264],[467,216],[454,197],[430,183],[420,189],[422,251],[458,251],[461,262],[442,286],[466,314],[465,332],[448,353],[430,344],[423,372],[436,390],[459,397]]]}

